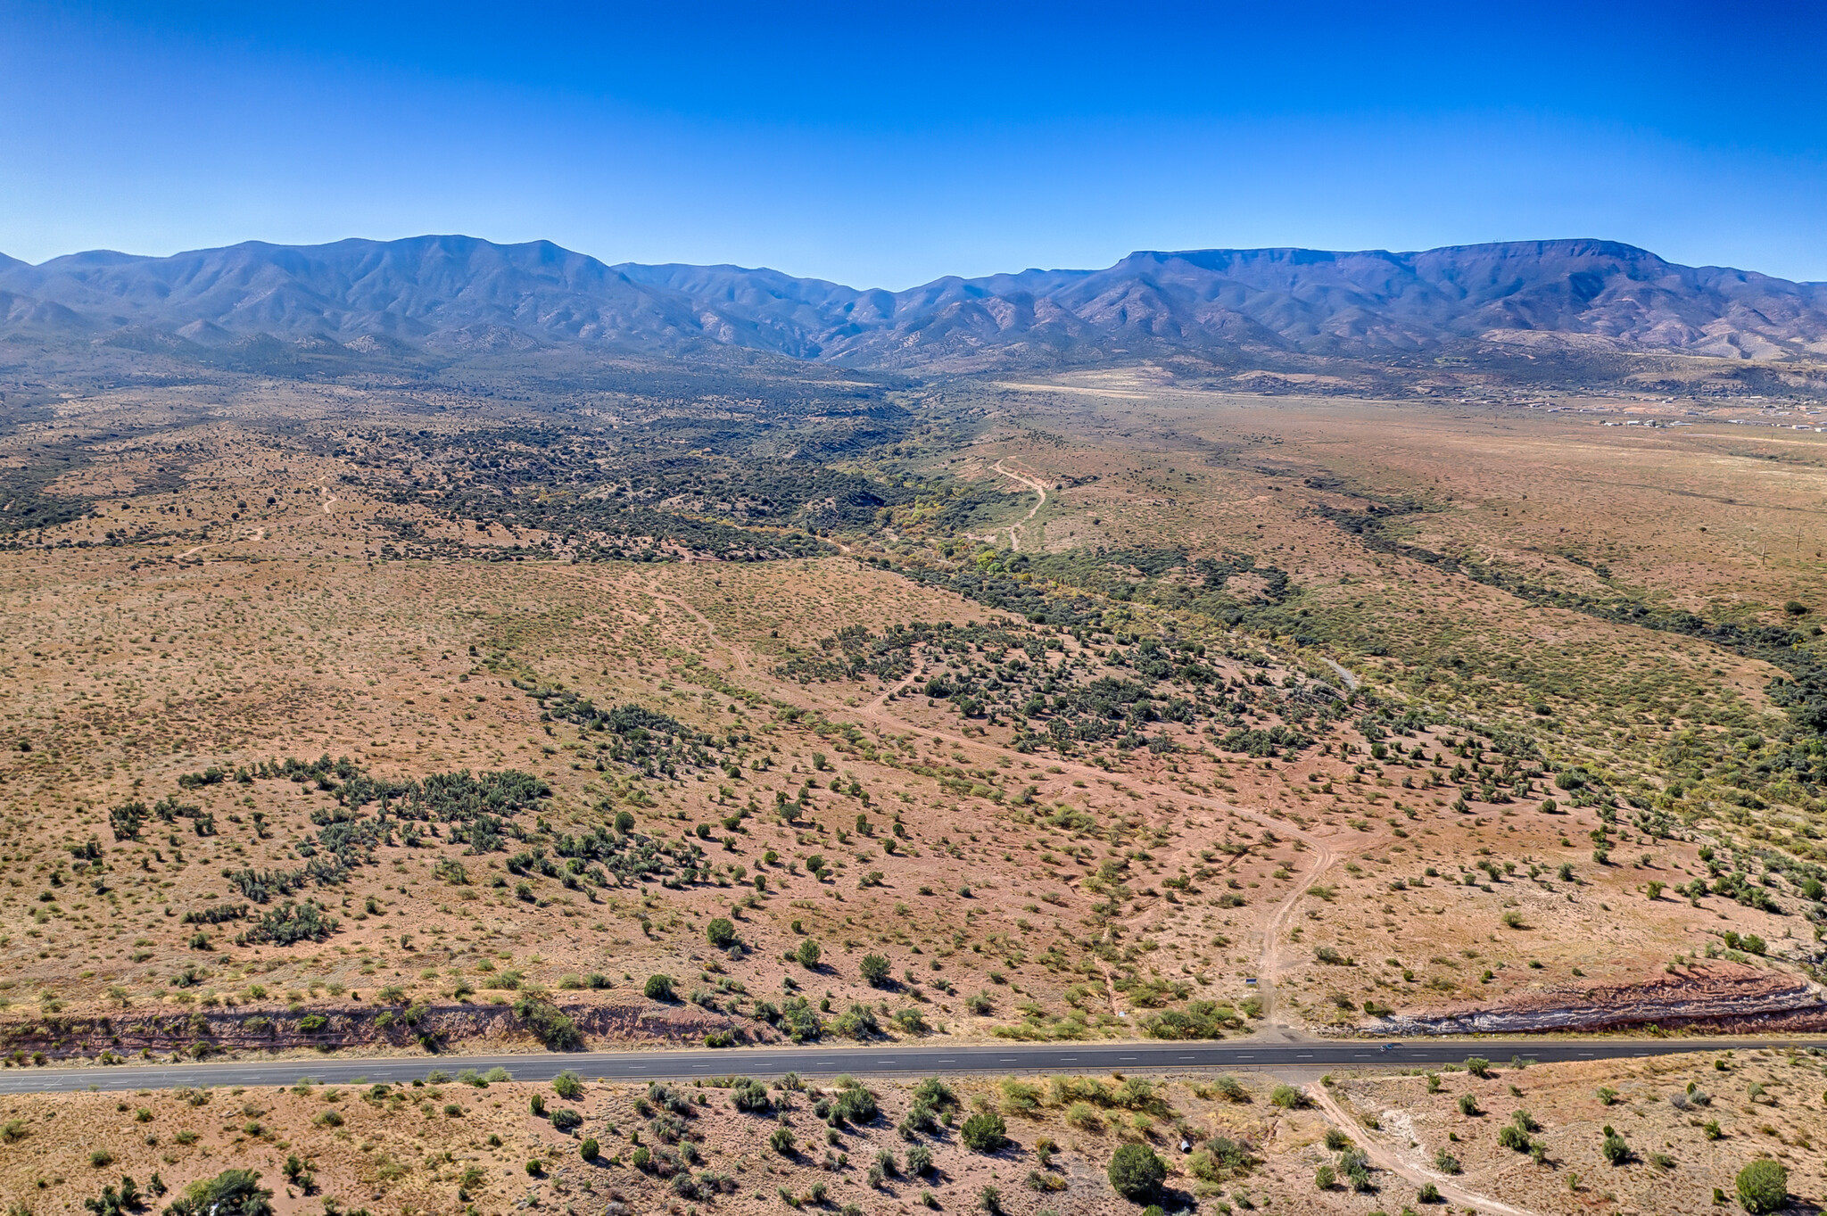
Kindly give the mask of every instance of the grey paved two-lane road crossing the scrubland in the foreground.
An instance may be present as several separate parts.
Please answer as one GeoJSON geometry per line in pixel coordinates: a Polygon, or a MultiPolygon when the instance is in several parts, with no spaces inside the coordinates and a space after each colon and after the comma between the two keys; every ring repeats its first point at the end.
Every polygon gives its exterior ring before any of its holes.
{"type": "Polygon", "coordinates": [[[1533,1063],[1630,1059],[1679,1052],[1754,1048],[1809,1048],[1787,1039],[1484,1039],[1484,1041],[1350,1041],[1350,1043],[1129,1043],[1129,1044],[1010,1044],[1010,1046],[811,1046],[731,1048],[692,1052],[539,1052],[532,1055],[438,1057],[327,1057],[287,1061],[227,1061],[214,1064],[115,1064],[104,1068],[5,1068],[0,1094],[58,1094],[75,1090],[139,1090],[206,1085],[294,1085],[311,1077],[323,1085],[351,1081],[413,1081],[433,1070],[457,1075],[464,1068],[506,1068],[515,1081],[550,1081],[572,1070],[588,1079],[649,1081],[718,1077],[729,1074],[778,1077],[957,1075],[970,1072],[1297,1072],[1325,1068],[1420,1068],[1456,1064],[1482,1055],[1496,1066],[1520,1057],[1533,1063]]]}

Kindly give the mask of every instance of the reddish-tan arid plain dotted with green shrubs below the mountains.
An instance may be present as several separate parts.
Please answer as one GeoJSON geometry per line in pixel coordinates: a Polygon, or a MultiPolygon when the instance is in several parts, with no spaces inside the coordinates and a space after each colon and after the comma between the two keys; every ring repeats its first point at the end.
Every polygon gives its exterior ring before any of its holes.
{"type": "MultiPolygon", "coordinates": [[[[795,385],[764,425],[738,389],[221,376],[11,429],[9,1066],[1827,1030],[1805,402],[1125,372],[873,413],[795,385]]],[[[254,1161],[301,1212],[1122,1211],[1127,1141],[1215,1212],[1398,1212],[1429,1178],[1478,1211],[1710,1211],[1756,1154],[1818,1196],[1820,1059],[1754,1046],[1283,1105],[1270,1077],[868,1083],[881,1114],[835,1121],[829,1077],[749,1112],[590,1079],[18,1097],[0,1189],[77,1211],[122,1169],[254,1161]],[[1710,1108],[1668,1103],[1688,1081],[1710,1108]],[[1513,1106],[1542,1152],[1498,1147],[1513,1106]],[[941,1121],[974,1110],[1016,1148],[941,1121]],[[1213,1136],[1235,1154],[1178,1148],[1213,1136]]]]}

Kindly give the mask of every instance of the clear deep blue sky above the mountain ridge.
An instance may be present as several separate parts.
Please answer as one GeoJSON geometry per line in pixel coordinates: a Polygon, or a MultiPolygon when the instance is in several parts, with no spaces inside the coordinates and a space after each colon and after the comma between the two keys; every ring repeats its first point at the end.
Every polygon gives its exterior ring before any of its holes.
{"type": "Polygon", "coordinates": [[[1597,236],[1827,279],[1827,5],[1390,7],[0,0],[0,252],[466,232],[899,288],[1597,236]]]}

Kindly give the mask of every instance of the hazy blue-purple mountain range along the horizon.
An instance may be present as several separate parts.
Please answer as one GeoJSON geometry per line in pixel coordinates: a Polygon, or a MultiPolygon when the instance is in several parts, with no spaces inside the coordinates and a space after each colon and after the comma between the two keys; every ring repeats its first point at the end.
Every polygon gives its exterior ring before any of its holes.
{"type": "Polygon", "coordinates": [[[354,356],[740,347],[871,369],[1390,360],[1489,343],[1796,360],[1827,356],[1827,283],[1681,267],[1615,241],[1515,241],[1418,254],[1140,252],[1107,270],[890,292],[426,236],[90,252],[37,267],[0,256],[0,336],[174,352],[278,340],[354,356]]]}

